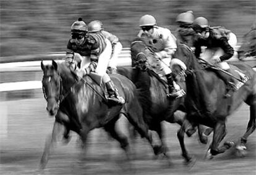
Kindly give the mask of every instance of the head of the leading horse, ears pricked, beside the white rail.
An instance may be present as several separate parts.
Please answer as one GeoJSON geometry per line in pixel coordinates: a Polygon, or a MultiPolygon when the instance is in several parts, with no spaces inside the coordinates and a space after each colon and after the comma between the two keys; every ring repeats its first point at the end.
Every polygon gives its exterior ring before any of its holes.
{"type": "Polygon", "coordinates": [[[63,86],[63,81],[74,84],[77,81],[76,76],[66,63],[58,64],[54,60],[51,65],[44,65],[41,61],[41,70],[43,70],[43,94],[47,101],[46,110],[49,115],[54,116],[58,112],[59,104],[66,96],[65,94],[69,92],[69,89],[63,86]]]}

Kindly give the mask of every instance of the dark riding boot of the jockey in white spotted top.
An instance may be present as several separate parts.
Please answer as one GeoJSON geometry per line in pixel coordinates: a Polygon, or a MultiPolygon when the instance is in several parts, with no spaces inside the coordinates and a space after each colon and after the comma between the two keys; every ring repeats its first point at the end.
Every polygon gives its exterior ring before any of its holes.
{"type": "Polygon", "coordinates": [[[169,94],[167,94],[168,97],[179,98],[179,97],[182,97],[186,94],[186,92],[183,89],[181,89],[179,87],[179,85],[177,85],[174,82],[172,73],[169,73],[165,76],[166,76],[166,79],[167,79],[168,89],[169,89],[169,94]]]}

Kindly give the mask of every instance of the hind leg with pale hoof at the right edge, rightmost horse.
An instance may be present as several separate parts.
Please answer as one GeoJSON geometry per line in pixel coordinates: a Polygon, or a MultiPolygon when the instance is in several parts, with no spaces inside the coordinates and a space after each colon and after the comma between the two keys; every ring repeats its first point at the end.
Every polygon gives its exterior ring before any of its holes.
{"type": "MultiPolygon", "coordinates": [[[[250,134],[252,134],[252,132],[255,131],[255,127],[256,127],[255,120],[256,120],[256,98],[253,104],[250,105],[250,120],[248,122],[246,132],[244,136],[241,137],[240,144],[236,146],[236,149],[241,153],[247,149],[245,146],[247,142],[247,138],[250,136],[250,134]]],[[[242,155],[243,154],[244,153],[242,153],[242,155]]]]}

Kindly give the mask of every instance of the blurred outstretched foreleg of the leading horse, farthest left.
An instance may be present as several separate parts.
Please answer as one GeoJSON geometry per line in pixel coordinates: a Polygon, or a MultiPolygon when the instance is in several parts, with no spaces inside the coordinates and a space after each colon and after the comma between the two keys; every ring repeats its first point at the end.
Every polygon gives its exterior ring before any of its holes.
{"type": "Polygon", "coordinates": [[[53,149],[54,144],[64,136],[65,126],[58,121],[54,122],[53,132],[46,138],[45,149],[40,160],[40,169],[45,169],[45,166],[49,160],[49,153],[53,149]]]}

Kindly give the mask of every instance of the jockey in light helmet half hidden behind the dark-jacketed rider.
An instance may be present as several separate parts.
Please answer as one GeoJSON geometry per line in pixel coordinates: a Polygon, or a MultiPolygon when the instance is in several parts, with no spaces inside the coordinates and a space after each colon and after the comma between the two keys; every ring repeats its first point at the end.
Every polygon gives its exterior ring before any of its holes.
{"type": "Polygon", "coordinates": [[[177,42],[193,47],[194,34],[193,30],[194,15],[192,11],[183,12],[177,15],[176,23],[178,28],[176,30],[177,42]]]}

